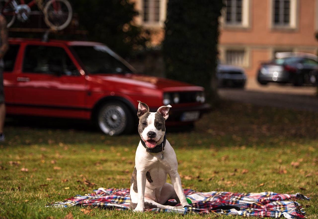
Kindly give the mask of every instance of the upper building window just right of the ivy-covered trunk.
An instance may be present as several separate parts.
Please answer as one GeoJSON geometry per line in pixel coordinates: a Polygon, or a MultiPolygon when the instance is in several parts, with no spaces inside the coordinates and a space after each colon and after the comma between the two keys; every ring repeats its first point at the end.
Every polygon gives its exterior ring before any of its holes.
{"type": "Polygon", "coordinates": [[[226,0],[226,16],[227,24],[242,25],[242,0],[226,0]]]}

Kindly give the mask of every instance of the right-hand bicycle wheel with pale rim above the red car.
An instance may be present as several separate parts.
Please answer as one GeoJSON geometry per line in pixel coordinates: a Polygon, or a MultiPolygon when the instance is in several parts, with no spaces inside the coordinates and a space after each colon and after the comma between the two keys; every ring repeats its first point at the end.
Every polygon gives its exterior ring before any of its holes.
{"type": "Polygon", "coordinates": [[[67,0],[49,0],[43,13],[46,25],[53,30],[66,28],[73,16],[72,6],[67,0]]]}

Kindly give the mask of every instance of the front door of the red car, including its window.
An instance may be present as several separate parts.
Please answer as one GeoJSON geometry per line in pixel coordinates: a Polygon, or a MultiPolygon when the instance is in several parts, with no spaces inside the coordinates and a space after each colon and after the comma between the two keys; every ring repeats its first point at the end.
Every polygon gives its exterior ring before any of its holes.
{"type": "Polygon", "coordinates": [[[24,111],[20,113],[85,119],[85,75],[78,63],[74,64],[68,48],[63,44],[24,46],[13,97],[15,105],[24,111]]]}

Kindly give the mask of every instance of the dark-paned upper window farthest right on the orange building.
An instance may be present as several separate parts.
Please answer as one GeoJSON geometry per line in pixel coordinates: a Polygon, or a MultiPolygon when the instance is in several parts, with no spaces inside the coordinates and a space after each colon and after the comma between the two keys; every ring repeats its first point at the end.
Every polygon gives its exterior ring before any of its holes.
{"type": "Polygon", "coordinates": [[[274,25],[289,26],[290,24],[290,0],[274,1],[274,25]]]}

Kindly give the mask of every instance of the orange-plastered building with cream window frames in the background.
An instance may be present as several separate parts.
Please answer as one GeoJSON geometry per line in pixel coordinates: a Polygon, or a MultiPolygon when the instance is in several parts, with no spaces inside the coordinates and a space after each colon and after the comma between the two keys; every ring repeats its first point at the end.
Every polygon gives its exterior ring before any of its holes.
{"type": "MultiPolygon", "coordinates": [[[[136,23],[150,29],[152,44],[164,37],[167,0],[134,0],[136,23]]],[[[219,58],[255,77],[276,52],[317,54],[318,0],[226,0],[220,18],[219,58]]]]}

